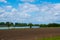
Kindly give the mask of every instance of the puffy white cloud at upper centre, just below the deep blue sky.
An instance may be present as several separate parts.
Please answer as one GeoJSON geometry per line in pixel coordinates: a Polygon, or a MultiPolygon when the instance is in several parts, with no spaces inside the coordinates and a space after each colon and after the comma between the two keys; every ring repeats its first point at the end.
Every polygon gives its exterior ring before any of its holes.
{"type": "Polygon", "coordinates": [[[29,4],[29,3],[19,5],[19,8],[20,8],[20,11],[24,13],[39,11],[39,8],[36,5],[29,4]]]}

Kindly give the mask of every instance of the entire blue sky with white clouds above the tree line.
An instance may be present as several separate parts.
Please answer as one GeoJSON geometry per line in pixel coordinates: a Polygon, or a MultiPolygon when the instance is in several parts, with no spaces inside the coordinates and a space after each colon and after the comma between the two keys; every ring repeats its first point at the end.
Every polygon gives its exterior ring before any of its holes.
{"type": "Polygon", "coordinates": [[[0,0],[0,22],[60,23],[60,0],[0,0]]]}

